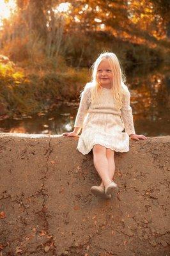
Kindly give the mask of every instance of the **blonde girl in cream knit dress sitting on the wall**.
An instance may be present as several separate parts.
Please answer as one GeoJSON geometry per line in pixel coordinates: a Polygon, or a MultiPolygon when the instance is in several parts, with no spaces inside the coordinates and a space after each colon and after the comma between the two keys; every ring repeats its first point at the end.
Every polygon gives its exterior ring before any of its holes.
{"type": "Polygon", "coordinates": [[[111,198],[111,194],[118,190],[112,180],[114,152],[128,152],[129,137],[146,140],[144,135],[135,134],[130,92],[123,83],[118,58],[112,52],[100,54],[93,64],[92,80],[81,94],[74,130],[62,135],[74,137],[81,129],[77,149],[84,155],[93,150],[94,165],[102,179],[100,186],[93,186],[91,192],[111,198]]]}

